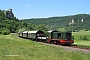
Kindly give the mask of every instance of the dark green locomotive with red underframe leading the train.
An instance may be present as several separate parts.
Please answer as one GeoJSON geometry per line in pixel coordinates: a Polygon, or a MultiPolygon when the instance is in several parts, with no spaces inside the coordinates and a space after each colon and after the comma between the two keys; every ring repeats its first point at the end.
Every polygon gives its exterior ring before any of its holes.
{"type": "Polygon", "coordinates": [[[72,40],[72,33],[71,32],[59,32],[59,31],[52,31],[49,33],[48,36],[49,43],[55,44],[72,44],[74,41],[72,40]]]}

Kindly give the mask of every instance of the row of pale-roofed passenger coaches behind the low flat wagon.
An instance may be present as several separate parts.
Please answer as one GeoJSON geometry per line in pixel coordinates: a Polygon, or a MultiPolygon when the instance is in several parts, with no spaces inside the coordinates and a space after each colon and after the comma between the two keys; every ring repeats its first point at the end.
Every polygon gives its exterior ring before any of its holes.
{"type": "Polygon", "coordinates": [[[28,38],[32,40],[39,40],[39,39],[42,39],[42,37],[44,36],[44,32],[41,30],[24,31],[24,32],[19,32],[18,34],[19,34],[19,37],[28,38]]]}

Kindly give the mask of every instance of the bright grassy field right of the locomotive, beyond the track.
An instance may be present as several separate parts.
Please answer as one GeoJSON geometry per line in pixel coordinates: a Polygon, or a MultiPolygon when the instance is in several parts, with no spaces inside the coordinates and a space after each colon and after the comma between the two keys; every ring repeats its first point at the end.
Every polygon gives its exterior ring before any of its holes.
{"type": "Polygon", "coordinates": [[[74,44],[84,47],[90,48],[90,32],[89,31],[81,31],[81,32],[73,32],[74,36],[74,44]],[[83,37],[86,36],[88,40],[83,40],[83,37]]]}

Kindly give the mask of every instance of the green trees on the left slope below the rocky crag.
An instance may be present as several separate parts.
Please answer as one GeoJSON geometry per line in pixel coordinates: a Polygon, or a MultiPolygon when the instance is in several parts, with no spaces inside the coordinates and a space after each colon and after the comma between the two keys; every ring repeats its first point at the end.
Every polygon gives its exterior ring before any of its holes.
{"type": "MultiPolygon", "coordinates": [[[[8,11],[6,11],[8,14],[8,11]]],[[[10,18],[6,17],[5,12],[0,10],[0,28],[2,28],[1,34],[8,34],[6,31],[9,30],[10,33],[17,32],[20,28],[29,28],[32,27],[30,24],[27,24],[24,21],[19,21],[16,17],[12,16],[10,18]]]]}

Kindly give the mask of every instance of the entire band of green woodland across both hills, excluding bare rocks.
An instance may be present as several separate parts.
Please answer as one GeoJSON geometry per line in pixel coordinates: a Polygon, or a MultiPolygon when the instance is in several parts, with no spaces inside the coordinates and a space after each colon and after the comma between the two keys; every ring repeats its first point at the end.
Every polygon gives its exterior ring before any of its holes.
{"type": "Polygon", "coordinates": [[[16,33],[18,30],[59,30],[59,31],[90,31],[90,15],[77,14],[63,17],[33,18],[19,20],[7,17],[4,10],[0,10],[0,34],[16,33]],[[69,23],[74,20],[74,24],[69,23]],[[83,22],[81,20],[83,19],[83,22]]]}

